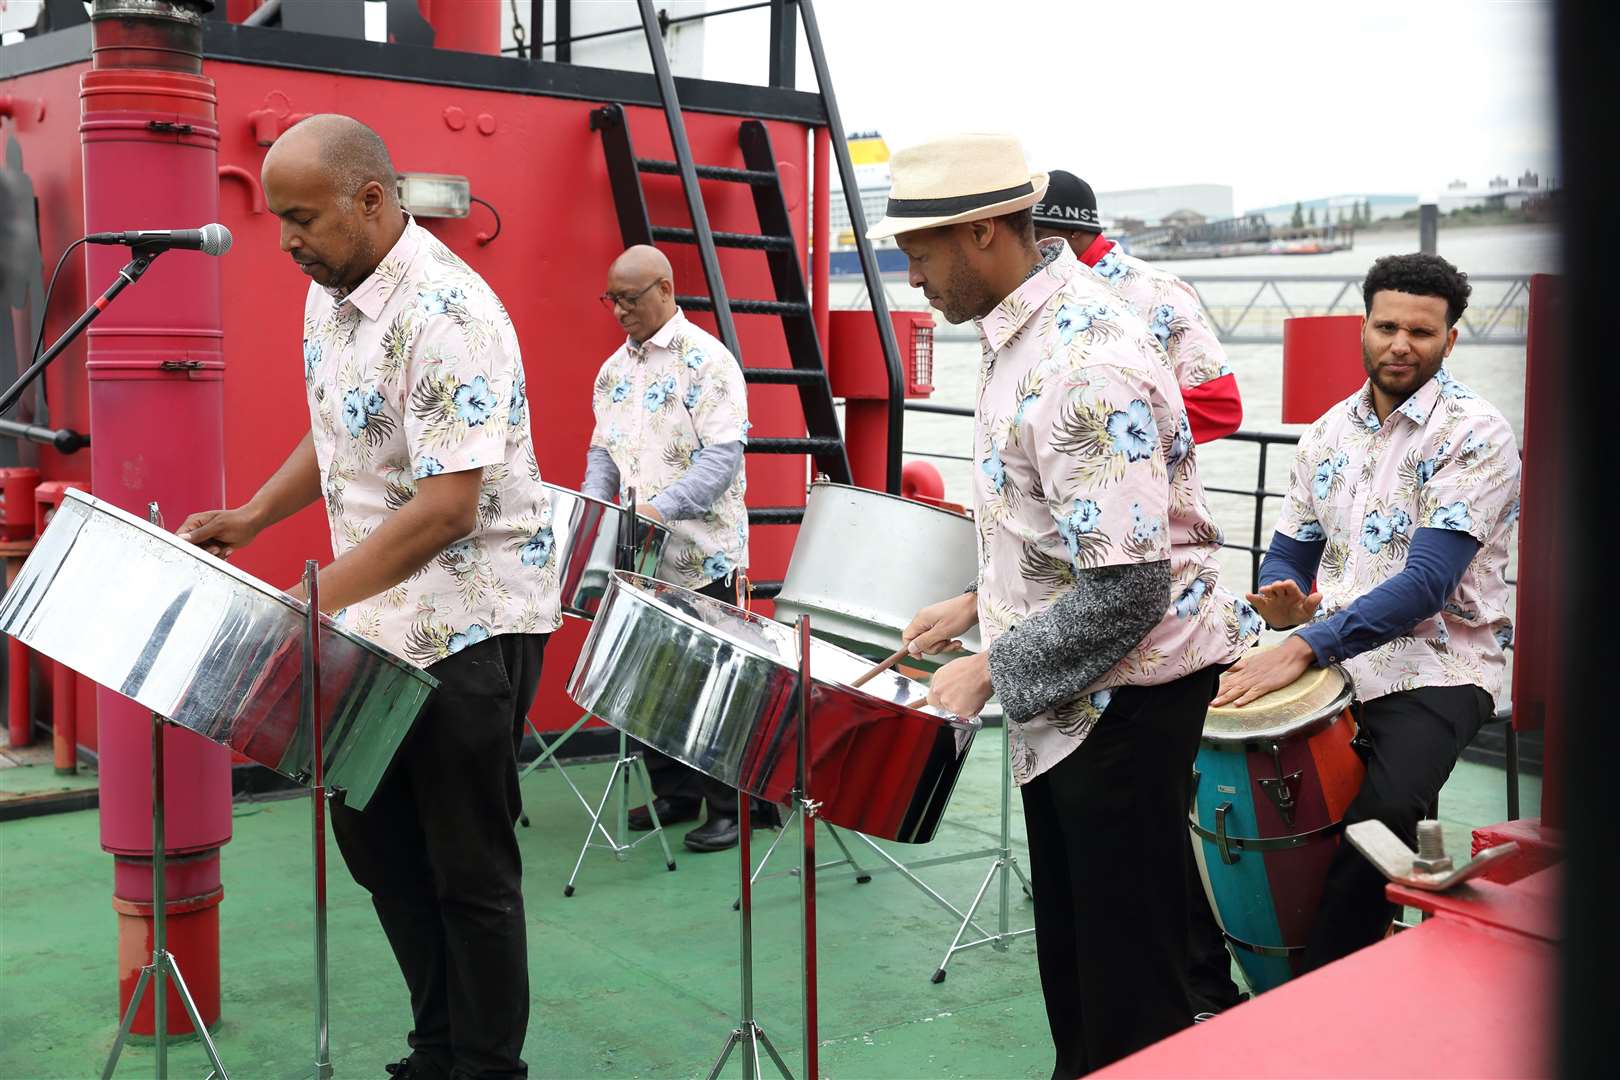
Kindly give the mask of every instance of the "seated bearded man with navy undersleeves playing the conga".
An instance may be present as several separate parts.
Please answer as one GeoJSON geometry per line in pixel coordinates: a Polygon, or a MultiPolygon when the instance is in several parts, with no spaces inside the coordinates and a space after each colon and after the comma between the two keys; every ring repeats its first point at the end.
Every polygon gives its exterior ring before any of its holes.
{"type": "MultiPolygon", "coordinates": [[[[1505,580],[1520,455],[1508,421],[1445,369],[1468,277],[1434,254],[1385,256],[1362,283],[1367,382],[1299,440],[1277,533],[1249,601],[1275,628],[1215,704],[1247,704],[1307,667],[1356,687],[1367,764],[1345,824],[1379,819],[1409,847],[1458,755],[1490,719],[1513,640],[1505,580]],[[1315,580],[1315,589],[1312,589],[1315,580]]],[[[1306,970],[1379,941],[1383,876],[1340,844],[1306,970]]]]}

